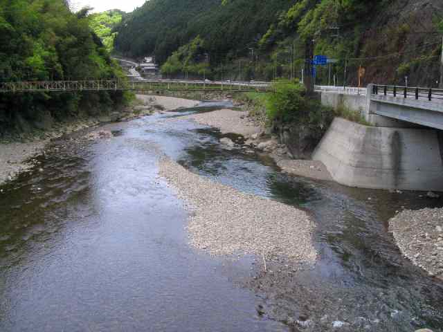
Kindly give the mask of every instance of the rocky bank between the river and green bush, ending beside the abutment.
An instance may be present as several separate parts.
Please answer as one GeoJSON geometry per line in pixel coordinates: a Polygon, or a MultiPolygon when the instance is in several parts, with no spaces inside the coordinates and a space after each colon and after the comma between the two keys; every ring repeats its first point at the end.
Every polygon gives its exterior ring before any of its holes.
{"type": "MultiPolygon", "coordinates": [[[[237,133],[244,136],[244,145],[268,153],[283,172],[316,180],[332,181],[332,176],[323,163],[314,160],[293,159],[293,155],[286,145],[280,144],[278,138],[271,135],[269,130],[264,129],[260,121],[248,116],[248,111],[220,109],[192,114],[180,119],[195,120],[200,124],[216,127],[221,133],[237,133]]],[[[231,147],[235,145],[228,138],[223,138],[221,142],[231,147]]]]}

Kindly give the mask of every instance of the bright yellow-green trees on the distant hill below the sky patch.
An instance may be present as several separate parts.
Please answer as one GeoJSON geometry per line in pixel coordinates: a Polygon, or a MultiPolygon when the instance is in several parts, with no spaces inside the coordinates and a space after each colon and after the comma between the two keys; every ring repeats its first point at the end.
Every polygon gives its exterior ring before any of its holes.
{"type": "Polygon", "coordinates": [[[121,10],[107,10],[106,12],[98,12],[88,16],[89,26],[98,37],[100,37],[103,45],[111,53],[114,49],[114,39],[116,31],[114,28],[120,24],[125,12],[121,10]]]}

